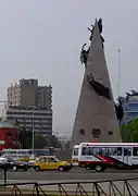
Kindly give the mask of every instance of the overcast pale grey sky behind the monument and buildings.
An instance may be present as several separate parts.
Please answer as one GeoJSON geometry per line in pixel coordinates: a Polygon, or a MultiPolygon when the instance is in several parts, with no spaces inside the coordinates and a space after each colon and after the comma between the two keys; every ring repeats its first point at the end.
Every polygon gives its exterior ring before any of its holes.
{"type": "Polygon", "coordinates": [[[121,94],[138,90],[137,0],[0,0],[0,99],[10,83],[39,78],[53,87],[53,130],[72,131],[84,74],[79,51],[96,17],[103,19],[114,96],[118,48],[121,94]]]}

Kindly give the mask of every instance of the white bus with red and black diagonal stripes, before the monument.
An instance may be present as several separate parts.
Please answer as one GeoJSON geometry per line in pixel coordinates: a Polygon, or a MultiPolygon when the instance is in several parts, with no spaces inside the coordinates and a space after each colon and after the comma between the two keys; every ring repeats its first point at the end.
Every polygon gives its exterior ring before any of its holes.
{"type": "Polygon", "coordinates": [[[74,146],[72,161],[97,172],[138,169],[138,143],[81,143],[74,146]]]}

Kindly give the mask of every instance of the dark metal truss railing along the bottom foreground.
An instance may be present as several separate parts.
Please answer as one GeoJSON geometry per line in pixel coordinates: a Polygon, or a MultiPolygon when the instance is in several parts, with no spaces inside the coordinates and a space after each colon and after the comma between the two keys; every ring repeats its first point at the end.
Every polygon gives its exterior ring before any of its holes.
{"type": "MultiPolygon", "coordinates": [[[[13,183],[1,184],[0,191],[12,195],[43,196],[138,196],[138,177],[105,181],[81,181],[60,183],[13,183]],[[5,189],[3,189],[4,187],[5,189]]],[[[2,195],[2,192],[0,192],[2,195]]]]}

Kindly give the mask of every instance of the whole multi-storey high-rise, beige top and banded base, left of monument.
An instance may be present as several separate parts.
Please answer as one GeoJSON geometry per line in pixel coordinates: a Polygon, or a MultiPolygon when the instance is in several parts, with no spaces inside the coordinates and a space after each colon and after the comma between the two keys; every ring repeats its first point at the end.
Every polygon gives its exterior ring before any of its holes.
{"type": "Polygon", "coordinates": [[[52,135],[52,87],[38,79],[20,79],[8,88],[7,120],[26,130],[52,135]]]}

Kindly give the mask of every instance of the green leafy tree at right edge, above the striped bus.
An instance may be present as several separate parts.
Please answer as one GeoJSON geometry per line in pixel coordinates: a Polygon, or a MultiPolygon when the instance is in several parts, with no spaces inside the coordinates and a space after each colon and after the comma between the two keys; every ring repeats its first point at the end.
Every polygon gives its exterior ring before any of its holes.
{"type": "Polygon", "coordinates": [[[123,124],[121,127],[123,142],[137,143],[138,142],[138,118],[133,119],[128,124],[123,124]]]}

